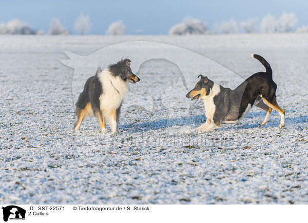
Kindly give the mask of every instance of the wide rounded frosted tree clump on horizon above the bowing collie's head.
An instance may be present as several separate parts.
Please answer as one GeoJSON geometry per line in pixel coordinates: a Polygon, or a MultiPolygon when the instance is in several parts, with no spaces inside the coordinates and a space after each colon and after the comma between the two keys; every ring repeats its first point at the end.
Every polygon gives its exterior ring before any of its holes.
{"type": "Polygon", "coordinates": [[[184,18],[181,24],[176,24],[169,30],[170,35],[198,35],[207,33],[209,33],[207,23],[197,18],[184,18]]]}

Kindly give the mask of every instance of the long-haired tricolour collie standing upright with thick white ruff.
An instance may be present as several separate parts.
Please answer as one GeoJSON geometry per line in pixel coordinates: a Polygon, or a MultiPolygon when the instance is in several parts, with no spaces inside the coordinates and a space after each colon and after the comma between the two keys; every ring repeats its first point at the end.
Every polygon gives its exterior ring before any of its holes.
{"type": "Polygon", "coordinates": [[[105,120],[112,133],[118,132],[120,109],[128,82],[139,82],[139,77],[130,69],[130,60],[121,59],[117,64],[109,65],[105,70],[98,68],[95,76],[91,76],[79,95],[76,103],[78,120],[75,131],[79,130],[82,120],[91,115],[98,118],[102,132],[106,132],[105,120]]]}

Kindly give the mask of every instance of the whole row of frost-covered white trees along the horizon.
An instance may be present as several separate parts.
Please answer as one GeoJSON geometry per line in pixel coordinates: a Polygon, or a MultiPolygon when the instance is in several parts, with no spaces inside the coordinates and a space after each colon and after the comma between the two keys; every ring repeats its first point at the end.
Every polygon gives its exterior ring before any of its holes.
{"type": "MultiPolygon", "coordinates": [[[[297,24],[294,13],[283,13],[278,19],[271,14],[265,15],[261,21],[258,18],[248,18],[246,21],[238,23],[234,19],[215,23],[213,30],[209,30],[207,23],[197,18],[184,18],[182,23],[172,26],[169,30],[170,35],[194,35],[209,33],[237,33],[240,26],[246,33],[256,32],[292,32],[297,24]]],[[[80,13],[74,22],[74,30],[79,34],[89,33],[92,27],[90,16],[80,13]]],[[[308,32],[308,26],[302,26],[297,32],[308,32]]],[[[109,35],[123,35],[125,25],[122,21],[111,23],[106,31],[109,35]]],[[[44,34],[42,30],[35,31],[30,25],[22,23],[18,19],[5,23],[0,23],[0,34],[44,34]]],[[[69,35],[70,31],[63,27],[59,18],[52,18],[48,34],[50,35],[69,35]]]]}

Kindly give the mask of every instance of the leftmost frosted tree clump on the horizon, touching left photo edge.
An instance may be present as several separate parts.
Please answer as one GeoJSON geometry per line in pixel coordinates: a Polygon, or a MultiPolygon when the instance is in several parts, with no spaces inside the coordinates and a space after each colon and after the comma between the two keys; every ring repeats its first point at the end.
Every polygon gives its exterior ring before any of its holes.
{"type": "Polygon", "coordinates": [[[18,19],[13,19],[7,24],[1,23],[0,24],[0,34],[35,34],[35,30],[32,29],[26,23],[22,23],[18,19]]]}

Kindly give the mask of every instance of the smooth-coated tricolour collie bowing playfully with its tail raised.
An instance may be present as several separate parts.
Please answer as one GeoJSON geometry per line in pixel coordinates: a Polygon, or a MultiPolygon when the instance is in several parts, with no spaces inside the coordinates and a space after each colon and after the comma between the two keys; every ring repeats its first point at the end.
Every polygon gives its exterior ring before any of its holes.
{"type": "Polygon", "coordinates": [[[257,54],[252,56],[259,60],[266,72],[253,74],[234,90],[224,88],[202,75],[198,76],[198,78],[201,76],[201,79],[186,95],[191,100],[202,98],[204,102],[206,123],[196,130],[209,132],[221,127],[222,123],[236,123],[253,105],[266,111],[266,116],[260,125],[266,123],[273,108],[281,117],[279,128],[284,127],[285,112],[276,102],[277,85],[273,81],[272,68],[262,56],[257,54]]]}

